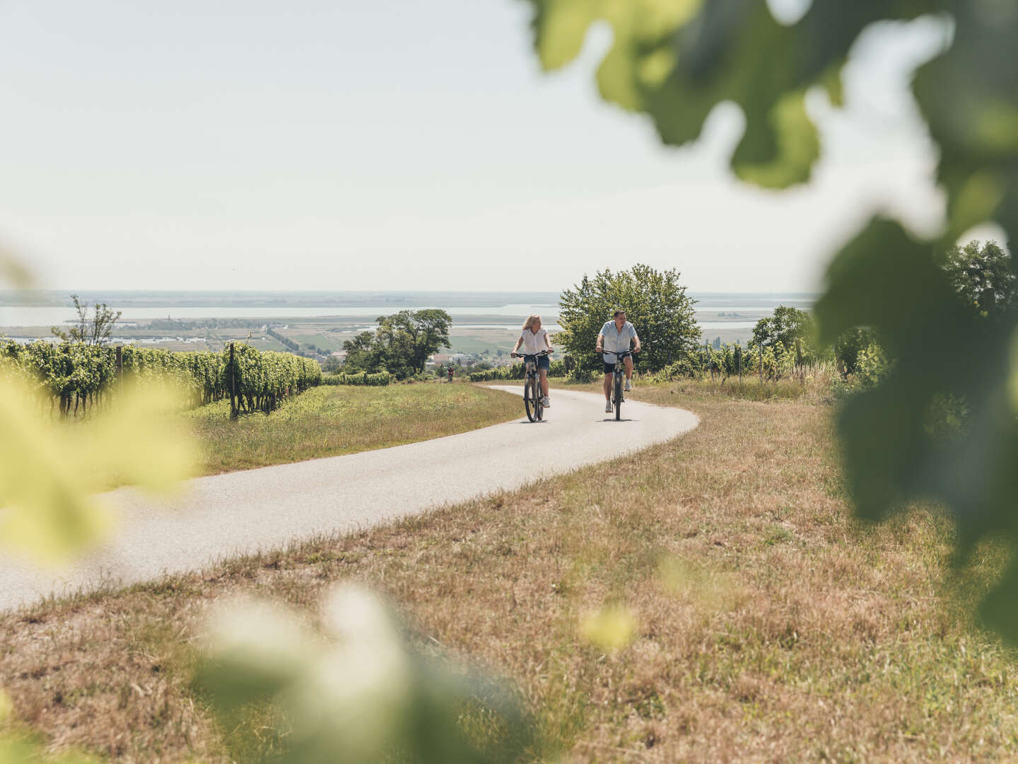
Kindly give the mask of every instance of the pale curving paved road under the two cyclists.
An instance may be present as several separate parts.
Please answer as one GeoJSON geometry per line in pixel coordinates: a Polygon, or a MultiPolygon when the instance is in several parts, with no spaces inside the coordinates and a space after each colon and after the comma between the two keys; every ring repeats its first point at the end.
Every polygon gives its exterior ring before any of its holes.
{"type": "Polygon", "coordinates": [[[623,421],[615,422],[600,395],[552,392],[543,423],[524,417],[420,443],[199,478],[173,502],[129,488],[112,491],[106,497],[119,519],[115,541],[59,576],[0,559],[0,609],[104,583],[149,581],[519,488],[669,440],[698,424],[689,412],[636,401],[627,402],[623,421]]]}

